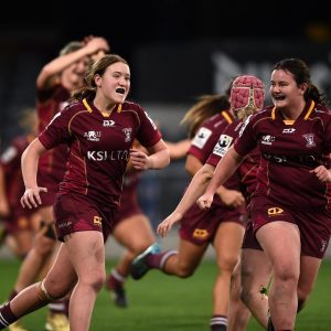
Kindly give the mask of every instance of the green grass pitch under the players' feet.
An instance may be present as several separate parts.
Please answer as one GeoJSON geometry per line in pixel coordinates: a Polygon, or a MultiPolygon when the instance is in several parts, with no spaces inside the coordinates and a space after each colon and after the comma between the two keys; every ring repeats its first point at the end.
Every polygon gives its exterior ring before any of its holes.
{"type": "MultiPolygon", "coordinates": [[[[107,270],[114,261],[107,263],[107,270]]],[[[19,263],[0,260],[0,299],[6,300],[14,280],[19,263]]],[[[139,281],[129,279],[127,292],[129,307],[119,309],[114,306],[109,293],[102,290],[98,296],[92,331],[209,331],[212,313],[212,287],[215,265],[204,260],[193,277],[179,279],[157,270],[150,271],[139,281]]],[[[308,306],[298,316],[299,331],[330,331],[331,308],[331,263],[325,261],[319,274],[317,286],[308,306]]],[[[44,330],[46,309],[41,309],[24,317],[29,331],[44,330]]],[[[247,331],[263,330],[250,320],[247,331]]]]}

